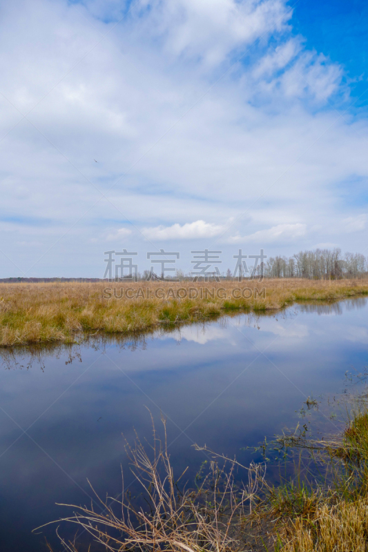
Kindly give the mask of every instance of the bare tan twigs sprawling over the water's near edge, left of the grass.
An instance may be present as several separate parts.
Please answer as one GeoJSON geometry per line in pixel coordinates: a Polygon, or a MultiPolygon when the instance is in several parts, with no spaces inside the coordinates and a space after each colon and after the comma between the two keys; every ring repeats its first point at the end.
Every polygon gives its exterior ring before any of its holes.
{"type": "MultiPolygon", "coordinates": [[[[164,422],[164,420],[163,420],[164,422]]],[[[74,514],[59,522],[75,524],[79,534],[66,540],[57,534],[65,550],[81,550],[79,535],[89,535],[96,550],[136,552],[240,552],[244,540],[246,503],[258,487],[259,470],[251,470],[248,486],[235,486],[235,463],[220,468],[211,462],[206,475],[197,474],[194,489],[185,489],[184,473],[175,477],[166,446],[153,426],[153,444],[126,446],[131,469],[142,499],[123,492],[122,500],[98,495],[88,506],[72,506],[74,514]],[[148,452],[147,450],[148,449],[148,452]],[[150,450],[151,449],[151,450],[150,450]]],[[[69,506],[67,504],[61,504],[69,506]]],[[[59,523],[58,522],[58,523],[59,523]]],[[[40,528],[39,528],[40,529],[40,528]]],[[[37,529],[37,531],[39,530],[37,529]]],[[[50,549],[51,550],[51,549],[50,549]]],[[[89,550],[89,548],[88,548],[89,550]]]]}

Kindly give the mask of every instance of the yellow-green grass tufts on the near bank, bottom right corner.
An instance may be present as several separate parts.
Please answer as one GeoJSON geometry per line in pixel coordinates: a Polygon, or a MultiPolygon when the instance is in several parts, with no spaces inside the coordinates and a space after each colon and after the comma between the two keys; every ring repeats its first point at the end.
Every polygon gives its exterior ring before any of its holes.
{"type": "MultiPolygon", "coordinates": [[[[304,438],[302,439],[304,441],[304,438]]],[[[297,445],[298,446],[298,445],[297,445]]],[[[360,397],[342,435],[307,442],[329,478],[325,484],[267,489],[262,509],[275,520],[275,550],[367,552],[368,409],[360,397]],[[328,483],[327,483],[328,481],[328,483]]]]}

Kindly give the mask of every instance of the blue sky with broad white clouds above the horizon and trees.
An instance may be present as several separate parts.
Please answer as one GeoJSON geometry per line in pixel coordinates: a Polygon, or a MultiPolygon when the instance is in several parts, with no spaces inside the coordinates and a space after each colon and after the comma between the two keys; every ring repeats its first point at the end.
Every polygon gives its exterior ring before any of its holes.
{"type": "Polygon", "coordinates": [[[0,10],[0,277],[103,277],[123,249],[141,272],[161,249],[185,272],[193,250],[368,255],[363,1],[0,10]]]}

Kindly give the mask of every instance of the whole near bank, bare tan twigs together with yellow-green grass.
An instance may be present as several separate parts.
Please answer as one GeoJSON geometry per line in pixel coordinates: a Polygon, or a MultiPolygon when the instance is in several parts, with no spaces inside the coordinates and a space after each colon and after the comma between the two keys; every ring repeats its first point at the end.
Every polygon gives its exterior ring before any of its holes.
{"type": "Polygon", "coordinates": [[[61,542],[70,552],[89,550],[92,543],[101,552],[366,552],[367,402],[333,439],[303,436],[298,443],[294,433],[281,437],[283,445],[288,438],[313,451],[319,479],[308,482],[297,465],[292,480],[271,486],[262,464],[242,466],[197,446],[209,461],[188,487],[185,471],[174,475],[166,431],[160,440],[154,428],[151,446],[138,438],[126,446],[142,493],[132,497],[128,491],[122,500],[96,495],[95,504],[72,506],[72,515],[57,523],[79,531],[72,542],[58,533],[61,542]]]}

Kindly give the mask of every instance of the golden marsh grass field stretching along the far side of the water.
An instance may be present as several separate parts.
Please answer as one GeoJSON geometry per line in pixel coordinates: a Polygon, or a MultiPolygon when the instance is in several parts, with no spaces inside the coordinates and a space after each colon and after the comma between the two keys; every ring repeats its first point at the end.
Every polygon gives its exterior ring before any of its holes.
{"type": "Polygon", "coordinates": [[[359,294],[368,294],[368,280],[0,284],[0,346],[70,343],[78,334],[97,331],[140,333],[230,312],[359,294]]]}

